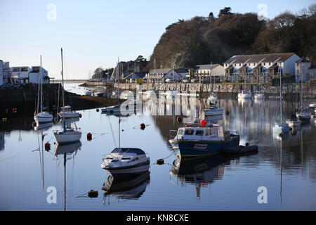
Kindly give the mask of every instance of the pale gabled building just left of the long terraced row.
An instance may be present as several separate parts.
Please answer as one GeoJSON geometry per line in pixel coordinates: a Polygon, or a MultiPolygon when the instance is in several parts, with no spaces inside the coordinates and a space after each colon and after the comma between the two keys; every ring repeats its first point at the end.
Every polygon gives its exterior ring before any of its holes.
{"type": "Polygon", "coordinates": [[[221,64],[197,65],[195,76],[199,80],[211,76],[212,79],[215,77],[218,81],[223,82],[225,79],[224,67],[221,64]]]}

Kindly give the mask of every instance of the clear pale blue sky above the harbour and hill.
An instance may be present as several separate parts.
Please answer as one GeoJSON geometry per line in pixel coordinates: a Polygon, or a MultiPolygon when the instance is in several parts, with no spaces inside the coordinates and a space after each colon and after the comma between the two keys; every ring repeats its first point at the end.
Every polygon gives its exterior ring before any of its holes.
{"type": "Polygon", "coordinates": [[[65,79],[87,79],[88,72],[114,67],[119,60],[149,59],[165,28],[196,15],[218,15],[229,6],[233,13],[258,13],[265,4],[268,18],[313,4],[301,1],[8,1],[0,0],[0,59],[11,66],[39,65],[50,77],[60,78],[60,47],[64,51],[65,79]],[[47,6],[55,4],[56,20],[47,6]],[[49,14],[51,15],[51,14],[49,14]]]}

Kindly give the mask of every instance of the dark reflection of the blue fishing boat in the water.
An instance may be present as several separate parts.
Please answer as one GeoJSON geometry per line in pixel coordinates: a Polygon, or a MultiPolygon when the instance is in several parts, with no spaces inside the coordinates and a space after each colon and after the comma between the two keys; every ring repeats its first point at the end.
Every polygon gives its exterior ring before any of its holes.
{"type": "Polygon", "coordinates": [[[199,158],[180,158],[177,156],[170,169],[171,176],[177,176],[181,184],[195,185],[197,198],[200,198],[201,187],[213,184],[214,181],[223,179],[225,165],[230,160],[237,160],[242,156],[256,155],[258,152],[243,153],[239,155],[214,155],[199,158]]]}

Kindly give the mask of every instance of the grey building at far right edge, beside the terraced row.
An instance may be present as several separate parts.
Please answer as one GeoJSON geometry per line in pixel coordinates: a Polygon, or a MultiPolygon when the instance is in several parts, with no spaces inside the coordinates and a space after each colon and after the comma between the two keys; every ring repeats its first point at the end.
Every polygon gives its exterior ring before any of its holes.
{"type": "Polygon", "coordinates": [[[310,79],[316,79],[316,65],[312,65],[310,60],[301,58],[295,62],[295,81],[301,82],[303,75],[303,82],[308,82],[310,79]]]}

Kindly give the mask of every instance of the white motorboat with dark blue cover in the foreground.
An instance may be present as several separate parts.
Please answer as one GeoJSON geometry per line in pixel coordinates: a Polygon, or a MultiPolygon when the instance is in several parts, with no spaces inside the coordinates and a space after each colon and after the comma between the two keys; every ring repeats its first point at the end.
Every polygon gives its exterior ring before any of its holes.
{"type": "Polygon", "coordinates": [[[114,148],[106,157],[103,156],[101,165],[112,176],[139,174],[147,171],[149,166],[150,158],[140,148],[114,148]]]}

